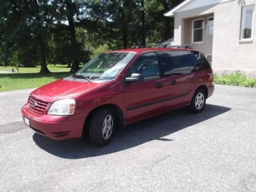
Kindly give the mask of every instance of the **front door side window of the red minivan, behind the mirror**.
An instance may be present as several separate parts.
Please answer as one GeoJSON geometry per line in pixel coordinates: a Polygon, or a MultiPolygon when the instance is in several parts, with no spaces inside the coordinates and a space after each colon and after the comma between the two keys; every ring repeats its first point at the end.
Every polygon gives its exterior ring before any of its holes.
{"type": "Polygon", "coordinates": [[[142,74],[145,80],[160,77],[159,63],[156,53],[146,53],[138,57],[128,73],[127,77],[130,77],[133,73],[142,74]]]}

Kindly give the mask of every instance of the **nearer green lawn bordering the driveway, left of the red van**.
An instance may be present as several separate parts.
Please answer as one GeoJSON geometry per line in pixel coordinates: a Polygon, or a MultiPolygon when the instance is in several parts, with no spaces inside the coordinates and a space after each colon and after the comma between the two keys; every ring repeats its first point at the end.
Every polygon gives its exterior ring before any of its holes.
{"type": "Polygon", "coordinates": [[[40,73],[10,73],[0,74],[0,92],[37,88],[55,81],[57,79],[67,77],[70,73],[68,72],[54,72],[49,74],[40,73]]]}

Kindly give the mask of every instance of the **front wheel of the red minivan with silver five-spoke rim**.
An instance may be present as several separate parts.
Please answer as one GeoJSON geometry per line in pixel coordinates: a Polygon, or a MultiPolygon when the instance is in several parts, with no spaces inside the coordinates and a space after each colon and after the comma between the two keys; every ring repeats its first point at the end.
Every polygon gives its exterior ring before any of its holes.
{"type": "Polygon", "coordinates": [[[113,138],[115,114],[110,108],[95,111],[89,125],[89,138],[92,144],[104,146],[113,138]]]}

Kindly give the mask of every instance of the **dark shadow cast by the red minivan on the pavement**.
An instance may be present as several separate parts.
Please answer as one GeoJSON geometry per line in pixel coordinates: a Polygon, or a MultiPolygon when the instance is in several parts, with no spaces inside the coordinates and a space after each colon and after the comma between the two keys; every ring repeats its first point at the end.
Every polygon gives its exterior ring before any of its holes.
{"type": "Polygon", "coordinates": [[[115,135],[111,143],[104,147],[94,146],[89,141],[81,139],[55,141],[37,133],[33,135],[33,139],[42,150],[54,156],[67,159],[95,157],[120,152],[152,140],[173,142],[172,139],[162,137],[229,110],[231,109],[224,106],[206,104],[204,111],[199,114],[192,114],[186,108],[169,112],[126,126],[115,135]]]}

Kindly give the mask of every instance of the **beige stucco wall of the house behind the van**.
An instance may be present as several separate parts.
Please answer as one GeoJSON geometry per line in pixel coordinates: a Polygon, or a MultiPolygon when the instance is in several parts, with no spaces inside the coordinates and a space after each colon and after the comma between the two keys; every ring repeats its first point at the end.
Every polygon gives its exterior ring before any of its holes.
{"type": "MultiPolygon", "coordinates": [[[[212,67],[222,70],[256,70],[256,0],[236,0],[193,10],[175,13],[174,41],[183,44],[184,23],[187,18],[214,14],[214,36],[212,42],[212,67]],[[255,5],[252,42],[240,42],[242,6],[255,5]]],[[[206,23],[206,22],[205,22],[206,23]]],[[[206,34],[206,31],[204,31],[206,34]]],[[[203,42],[206,44],[206,42],[203,42]]],[[[205,53],[204,45],[197,48],[205,53]]],[[[206,50],[208,51],[208,50],[206,50]]]]}

